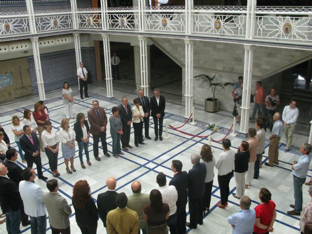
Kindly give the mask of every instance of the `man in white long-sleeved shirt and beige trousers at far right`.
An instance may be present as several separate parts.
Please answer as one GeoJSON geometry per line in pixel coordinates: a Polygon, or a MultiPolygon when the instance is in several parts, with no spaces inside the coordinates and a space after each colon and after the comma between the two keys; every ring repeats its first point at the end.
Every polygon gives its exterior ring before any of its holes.
{"type": "Polygon", "coordinates": [[[284,132],[286,137],[286,149],[284,152],[289,152],[292,145],[292,135],[294,126],[297,123],[299,110],[296,107],[296,101],[290,100],[289,106],[285,106],[283,110],[284,132]]]}

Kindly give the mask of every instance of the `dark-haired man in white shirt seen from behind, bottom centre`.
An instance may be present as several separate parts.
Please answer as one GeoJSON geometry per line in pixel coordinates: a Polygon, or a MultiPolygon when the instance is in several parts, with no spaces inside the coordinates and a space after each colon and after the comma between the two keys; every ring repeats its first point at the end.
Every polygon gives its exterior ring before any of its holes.
{"type": "Polygon", "coordinates": [[[167,219],[167,225],[170,228],[170,233],[176,234],[176,187],[173,185],[166,185],[167,179],[165,174],[162,172],[157,175],[156,182],[159,185],[158,190],[162,195],[162,202],[167,203],[170,208],[169,218],[167,219]]]}

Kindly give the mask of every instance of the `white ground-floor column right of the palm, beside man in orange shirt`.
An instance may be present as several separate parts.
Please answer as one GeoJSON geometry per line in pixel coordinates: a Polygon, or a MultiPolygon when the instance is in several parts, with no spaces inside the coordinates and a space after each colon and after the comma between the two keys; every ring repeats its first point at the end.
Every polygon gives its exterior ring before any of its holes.
{"type": "Polygon", "coordinates": [[[244,84],[243,84],[243,97],[240,119],[241,133],[247,133],[249,127],[249,110],[250,110],[250,94],[253,79],[253,59],[254,59],[254,46],[244,44],[245,60],[244,60],[244,84]]]}

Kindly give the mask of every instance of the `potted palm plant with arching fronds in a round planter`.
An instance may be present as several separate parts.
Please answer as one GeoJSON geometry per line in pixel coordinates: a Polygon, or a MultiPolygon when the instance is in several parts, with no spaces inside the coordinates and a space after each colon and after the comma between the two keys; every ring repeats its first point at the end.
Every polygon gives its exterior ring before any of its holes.
{"type": "Polygon", "coordinates": [[[200,85],[206,85],[208,90],[211,90],[213,97],[205,99],[205,110],[208,112],[217,112],[219,110],[219,102],[215,97],[218,93],[228,85],[234,85],[231,82],[218,82],[218,78],[213,76],[212,78],[208,75],[195,76],[195,80],[200,82],[200,85]]]}

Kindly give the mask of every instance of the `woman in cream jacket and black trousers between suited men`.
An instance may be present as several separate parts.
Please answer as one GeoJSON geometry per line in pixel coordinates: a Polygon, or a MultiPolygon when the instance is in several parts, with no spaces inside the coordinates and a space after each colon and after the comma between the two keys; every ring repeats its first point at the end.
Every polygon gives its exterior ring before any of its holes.
{"type": "Polygon", "coordinates": [[[133,128],[135,130],[135,145],[138,147],[138,144],[144,145],[142,131],[144,122],[143,117],[145,114],[142,106],[140,106],[140,101],[138,98],[135,98],[133,103],[135,104],[134,107],[132,107],[133,128]]]}

